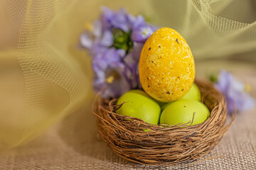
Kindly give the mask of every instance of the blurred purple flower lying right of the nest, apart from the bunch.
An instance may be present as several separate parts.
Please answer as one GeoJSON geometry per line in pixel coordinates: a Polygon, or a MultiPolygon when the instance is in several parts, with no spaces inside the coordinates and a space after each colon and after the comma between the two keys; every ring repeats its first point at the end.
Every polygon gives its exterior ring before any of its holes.
{"type": "Polygon", "coordinates": [[[225,96],[227,102],[228,113],[235,111],[235,107],[239,112],[250,110],[254,107],[254,99],[245,91],[245,84],[235,79],[232,74],[220,71],[216,88],[225,96]]]}

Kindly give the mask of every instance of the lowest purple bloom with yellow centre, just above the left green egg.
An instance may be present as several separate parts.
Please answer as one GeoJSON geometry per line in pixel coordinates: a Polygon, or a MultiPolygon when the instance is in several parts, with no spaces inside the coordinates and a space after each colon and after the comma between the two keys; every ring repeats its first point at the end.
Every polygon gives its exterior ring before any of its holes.
{"type": "Polygon", "coordinates": [[[94,89],[102,91],[102,97],[116,97],[131,89],[130,70],[121,62],[124,50],[107,49],[98,53],[92,67],[95,71],[94,89]]]}

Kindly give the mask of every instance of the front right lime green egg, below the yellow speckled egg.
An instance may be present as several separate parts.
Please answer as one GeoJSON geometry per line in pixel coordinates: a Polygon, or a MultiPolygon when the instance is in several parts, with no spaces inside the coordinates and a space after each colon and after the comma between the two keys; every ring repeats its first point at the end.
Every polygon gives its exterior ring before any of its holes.
{"type": "Polygon", "coordinates": [[[206,121],[209,115],[210,111],[203,103],[195,100],[181,99],[174,101],[164,108],[164,111],[161,113],[160,124],[177,125],[179,123],[192,122],[193,120],[191,125],[197,125],[206,121]]]}

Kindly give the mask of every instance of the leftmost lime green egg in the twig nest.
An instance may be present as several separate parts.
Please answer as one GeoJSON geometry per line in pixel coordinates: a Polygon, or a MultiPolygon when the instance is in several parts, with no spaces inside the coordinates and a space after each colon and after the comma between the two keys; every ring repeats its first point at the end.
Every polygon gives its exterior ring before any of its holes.
{"type": "Polygon", "coordinates": [[[128,91],[118,98],[117,105],[122,103],[124,104],[117,110],[117,113],[139,118],[154,125],[159,123],[161,108],[159,104],[144,91],[128,91]]]}

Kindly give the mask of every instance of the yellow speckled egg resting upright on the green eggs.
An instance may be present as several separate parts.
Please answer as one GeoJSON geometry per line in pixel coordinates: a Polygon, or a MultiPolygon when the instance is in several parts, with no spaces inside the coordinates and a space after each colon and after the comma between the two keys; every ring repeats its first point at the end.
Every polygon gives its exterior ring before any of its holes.
{"type": "Polygon", "coordinates": [[[146,40],[139,59],[142,88],[158,101],[176,101],[193,84],[196,69],[186,40],[171,28],[160,28],[146,40]]]}

